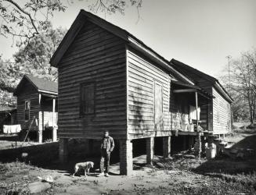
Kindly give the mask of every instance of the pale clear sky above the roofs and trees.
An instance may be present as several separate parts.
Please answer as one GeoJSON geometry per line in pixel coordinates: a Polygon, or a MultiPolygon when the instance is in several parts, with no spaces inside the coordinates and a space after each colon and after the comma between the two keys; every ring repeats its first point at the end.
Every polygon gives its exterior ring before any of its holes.
{"type": "MultiPolygon", "coordinates": [[[[54,27],[73,23],[80,9],[95,0],[74,1],[52,18],[54,27]]],[[[211,76],[218,76],[240,53],[256,48],[255,0],[143,0],[142,8],[103,19],[128,30],[164,58],[175,58],[211,76]]],[[[0,37],[0,54],[12,58],[12,39],[0,37]]]]}

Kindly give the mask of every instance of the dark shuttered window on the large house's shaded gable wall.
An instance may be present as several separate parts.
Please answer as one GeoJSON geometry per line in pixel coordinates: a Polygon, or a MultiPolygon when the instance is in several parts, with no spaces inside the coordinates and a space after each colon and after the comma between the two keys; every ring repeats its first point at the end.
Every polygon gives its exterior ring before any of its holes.
{"type": "Polygon", "coordinates": [[[95,85],[82,84],[81,85],[81,115],[88,115],[94,113],[95,101],[95,85]]]}

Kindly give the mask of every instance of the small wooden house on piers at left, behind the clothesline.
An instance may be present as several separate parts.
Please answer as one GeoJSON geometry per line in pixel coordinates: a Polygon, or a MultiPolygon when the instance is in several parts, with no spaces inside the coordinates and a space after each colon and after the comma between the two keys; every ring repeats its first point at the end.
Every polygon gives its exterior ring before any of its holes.
{"type": "Polygon", "coordinates": [[[17,97],[17,123],[22,129],[36,130],[42,142],[45,127],[52,127],[52,140],[57,139],[58,84],[53,81],[25,75],[13,95],[17,97]]]}

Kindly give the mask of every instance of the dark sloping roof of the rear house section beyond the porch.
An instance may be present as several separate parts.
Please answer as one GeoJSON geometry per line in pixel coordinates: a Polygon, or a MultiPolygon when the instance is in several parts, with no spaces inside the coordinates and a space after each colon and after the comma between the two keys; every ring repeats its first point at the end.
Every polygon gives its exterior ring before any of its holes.
{"type": "Polygon", "coordinates": [[[233,98],[229,95],[225,88],[222,87],[222,84],[219,83],[219,81],[215,77],[203,73],[198,69],[194,69],[193,67],[188,66],[182,62],[179,62],[175,58],[171,59],[170,64],[171,66],[174,66],[175,69],[178,69],[178,71],[180,71],[182,74],[189,77],[190,80],[193,80],[193,82],[196,84],[199,81],[198,76],[200,76],[200,78],[204,80],[209,81],[215,88],[217,88],[217,90],[222,94],[223,97],[225,97],[227,101],[229,101],[230,103],[233,102],[233,98]]]}

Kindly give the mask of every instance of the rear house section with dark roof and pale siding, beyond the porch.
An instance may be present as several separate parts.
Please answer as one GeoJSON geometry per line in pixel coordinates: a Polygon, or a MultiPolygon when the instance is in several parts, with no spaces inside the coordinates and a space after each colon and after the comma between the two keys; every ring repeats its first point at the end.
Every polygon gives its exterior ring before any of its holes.
{"type": "Polygon", "coordinates": [[[171,59],[171,66],[180,73],[189,77],[198,87],[211,94],[212,98],[207,104],[201,106],[200,117],[204,126],[214,135],[224,135],[231,131],[231,103],[233,98],[222,87],[215,77],[202,73],[198,69],[188,66],[178,60],[171,59]]]}

